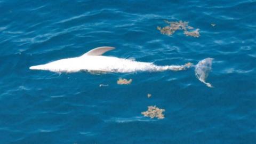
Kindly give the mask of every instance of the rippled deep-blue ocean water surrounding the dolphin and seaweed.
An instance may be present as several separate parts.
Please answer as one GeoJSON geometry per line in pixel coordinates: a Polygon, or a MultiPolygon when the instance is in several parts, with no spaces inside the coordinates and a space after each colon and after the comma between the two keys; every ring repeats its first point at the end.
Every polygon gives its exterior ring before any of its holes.
{"type": "Polygon", "coordinates": [[[0,16],[1,144],[256,142],[256,1],[1,0],[0,16]],[[164,20],[188,21],[201,36],[163,35],[164,20]],[[29,69],[99,46],[156,65],[214,58],[207,78],[214,87],[199,82],[194,68],[29,69]],[[119,77],[132,84],[118,85],[119,77]],[[148,106],[165,109],[165,118],[143,117],[148,106]]]}

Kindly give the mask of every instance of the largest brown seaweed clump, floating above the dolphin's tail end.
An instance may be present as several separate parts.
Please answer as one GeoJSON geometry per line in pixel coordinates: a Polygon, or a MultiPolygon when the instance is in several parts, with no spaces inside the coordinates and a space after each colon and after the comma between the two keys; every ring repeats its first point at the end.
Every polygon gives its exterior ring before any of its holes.
{"type": "Polygon", "coordinates": [[[186,36],[193,36],[193,37],[199,37],[199,29],[196,29],[194,31],[188,31],[191,29],[194,29],[193,27],[188,26],[188,22],[187,21],[166,21],[166,23],[169,24],[169,26],[166,27],[157,27],[158,30],[160,30],[161,34],[165,34],[165,35],[172,35],[175,33],[176,30],[183,30],[184,34],[186,36]]]}

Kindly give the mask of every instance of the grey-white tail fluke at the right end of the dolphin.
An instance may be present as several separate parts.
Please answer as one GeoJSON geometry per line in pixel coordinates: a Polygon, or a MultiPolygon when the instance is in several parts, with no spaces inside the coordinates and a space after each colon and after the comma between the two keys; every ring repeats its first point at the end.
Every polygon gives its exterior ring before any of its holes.
{"type": "Polygon", "coordinates": [[[206,83],[205,80],[208,77],[212,69],[212,58],[206,58],[197,63],[195,66],[196,78],[208,87],[213,87],[210,83],[206,83]]]}

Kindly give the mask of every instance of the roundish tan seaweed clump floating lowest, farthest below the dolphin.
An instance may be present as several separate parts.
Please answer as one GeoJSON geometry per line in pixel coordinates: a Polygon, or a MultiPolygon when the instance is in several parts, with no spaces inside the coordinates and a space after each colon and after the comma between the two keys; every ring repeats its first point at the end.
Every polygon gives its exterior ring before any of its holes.
{"type": "Polygon", "coordinates": [[[164,111],[165,111],[165,109],[160,109],[156,106],[148,106],[148,110],[141,112],[141,114],[144,115],[145,117],[150,117],[150,118],[157,117],[158,119],[163,119],[164,111]]]}

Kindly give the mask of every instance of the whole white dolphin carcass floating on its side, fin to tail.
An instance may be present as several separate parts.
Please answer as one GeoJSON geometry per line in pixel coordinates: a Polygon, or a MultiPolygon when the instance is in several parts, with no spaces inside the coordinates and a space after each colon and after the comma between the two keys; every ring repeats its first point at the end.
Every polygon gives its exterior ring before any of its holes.
{"type": "MultiPolygon", "coordinates": [[[[186,70],[193,66],[192,63],[185,65],[156,66],[152,62],[139,62],[132,59],[122,59],[117,57],[102,56],[103,53],[113,50],[115,47],[102,46],[97,47],[80,57],[61,59],[46,63],[44,65],[31,66],[33,70],[50,70],[56,73],[75,73],[78,71],[102,71],[113,73],[132,73],[136,71],[164,71],[164,70],[186,70]]],[[[209,72],[211,71],[212,58],[206,58],[197,63],[195,74],[199,81],[209,87],[210,83],[206,83],[209,72]]]]}

